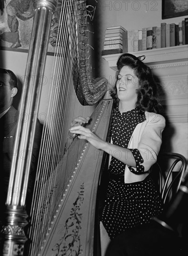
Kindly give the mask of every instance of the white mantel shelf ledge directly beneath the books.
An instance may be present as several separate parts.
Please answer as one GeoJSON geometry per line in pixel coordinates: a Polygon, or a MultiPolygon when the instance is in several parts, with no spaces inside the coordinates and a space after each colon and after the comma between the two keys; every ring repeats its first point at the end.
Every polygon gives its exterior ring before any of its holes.
{"type": "MultiPolygon", "coordinates": [[[[164,47],[151,49],[146,51],[132,52],[135,56],[145,55],[146,59],[143,61],[148,66],[162,63],[174,63],[179,61],[188,61],[188,45],[164,47]]],[[[110,54],[102,56],[108,62],[109,67],[117,70],[116,62],[121,54],[110,54]]]]}

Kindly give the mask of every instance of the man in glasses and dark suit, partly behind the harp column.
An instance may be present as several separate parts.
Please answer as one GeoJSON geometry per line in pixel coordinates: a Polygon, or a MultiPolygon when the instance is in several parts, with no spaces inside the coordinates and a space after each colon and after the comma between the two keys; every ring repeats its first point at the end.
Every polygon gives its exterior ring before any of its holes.
{"type": "MultiPolygon", "coordinates": [[[[5,205],[7,199],[13,159],[13,145],[19,120],[19,111],[12,105],[13,98],[17,92],[18,81],[15,74],[11,70],[0,68],[0,201],[3,205],[5,205]]],[[[34,189],[41,131],[40,122],[37,120],[27,189],[28,203],[31,203],[32,191],[34,189]]]]}

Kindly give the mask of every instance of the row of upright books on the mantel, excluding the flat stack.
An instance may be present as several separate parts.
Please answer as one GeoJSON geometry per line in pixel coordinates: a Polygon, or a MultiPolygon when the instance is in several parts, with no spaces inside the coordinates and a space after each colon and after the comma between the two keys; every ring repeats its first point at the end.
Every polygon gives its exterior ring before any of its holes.
{"type": "Polygon", "coordinates": [[[188,18],[179,24],[165,22],[161,27],[128,30],[128,52],[188,44],[188,18]]]}

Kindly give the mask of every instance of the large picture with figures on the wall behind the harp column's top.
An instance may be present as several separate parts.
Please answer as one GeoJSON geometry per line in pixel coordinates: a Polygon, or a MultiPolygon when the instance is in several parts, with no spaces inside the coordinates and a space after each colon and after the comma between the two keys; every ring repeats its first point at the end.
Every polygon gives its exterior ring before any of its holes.
{"type": "MultiPolygon", "coordinates": [[[[54,55],[60,20],[60,6],[53,14],[50,37],[48,41],[48,55],[54,55]]],[[[34,0],[5,0],[0,10],[0,48],[18,52],[28,52],[33,27],[34,0]]]]}

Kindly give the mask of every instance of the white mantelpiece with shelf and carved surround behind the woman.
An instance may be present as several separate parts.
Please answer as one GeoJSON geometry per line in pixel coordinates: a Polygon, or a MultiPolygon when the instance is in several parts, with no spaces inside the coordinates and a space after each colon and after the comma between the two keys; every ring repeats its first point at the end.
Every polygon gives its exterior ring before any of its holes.
{"type": "MultiPolygon", "coordinates": [[[[167,108],[172,123],[188,121],[188,45],[152,49],[132,53],[145,55],[146,63],[159,78],[163,94],[162,104],[167,108]]],[[[117,70],[116,62],[121,54],[102,56],[109,67],[117,70]]]]}

